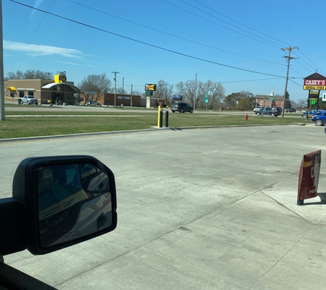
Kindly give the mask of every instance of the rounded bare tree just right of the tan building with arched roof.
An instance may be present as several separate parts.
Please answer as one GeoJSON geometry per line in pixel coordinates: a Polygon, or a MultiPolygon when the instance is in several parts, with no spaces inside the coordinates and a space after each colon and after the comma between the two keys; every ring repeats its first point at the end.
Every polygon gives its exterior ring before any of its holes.
{"type": "Polygon", "coordinates": [[[110,86],[111,81],[106,77],[106,73],[89,74],[78,84],[82,91],[95,92],[95,100],[100,98],[100,93],[108,93],[110,86]]]}

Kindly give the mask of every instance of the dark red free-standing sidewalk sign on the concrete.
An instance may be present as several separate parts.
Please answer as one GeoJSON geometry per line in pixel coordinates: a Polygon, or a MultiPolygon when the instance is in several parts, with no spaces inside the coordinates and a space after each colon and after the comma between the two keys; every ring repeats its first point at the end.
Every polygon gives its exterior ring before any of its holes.
{"type": "Polygon", "coordinates": [[[321,150],[303,155],[299,171],[297,205],[303,205],[304,199],[317,196],[320,171],[321,150]]]}

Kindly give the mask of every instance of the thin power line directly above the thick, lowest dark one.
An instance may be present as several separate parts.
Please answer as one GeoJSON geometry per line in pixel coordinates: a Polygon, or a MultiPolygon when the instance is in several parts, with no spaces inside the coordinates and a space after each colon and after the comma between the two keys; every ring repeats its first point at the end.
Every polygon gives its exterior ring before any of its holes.
{"type": "Polygon", "coordinates": [[[211,49],[216,49],[216,50],[219,50],[220,52],[226,52],[226,53],[228,53],[228,54],[234,54],[234,55],[236,55],[236,56],[242,56],[242,57],[245,57],[245,58],[251,58],[251,59],[254,59],[254,60],[263,61],[263,62],[265,62],[265,63],[272,63],[272,64],[275,64],[275,65],[282,65],[281,63],[274,63],[274,62],[272,62],[272,61],[262,60],[262,59],[259,59],[259,58],[253,58],[253,57],[251,57],[251,56],[244,56],[243,54],[236,54],[235,52],[229,52],[229,51],[227,51],[227,50],[220,49],[220,48],[217,48],[217,47],[213,47],[213,46],[211,46],[211,45],[205,45],[205,44],[203,44],[203,43],[198,43],[197,41],[191,41],[190,39],[183,38],[183,37],[181,37],[181,36],[177,36],[177,35],[170,34],[170,33],[167,33],[167,32],[163,32],[162,30],[157,30],[157,29],[152,28],[152,27],[149,27],[149,26],[147,26],[147,25],[143,25],[143,24],[137,23],[137,22],[135,22],[135,21],[130,21],[130,20],[128,20],[128,19],[124,19],[124,18],[122,18],[122,17],[115,16],[115,15],[110,14],[110,13],[108,13],[108,12],[104,12],[104,11],[101,11],[101,10],[98,10],[98,9],[95,9],[95,8],[92,8],[92,7],[90,7],[90,6],[87,6],[87,5],[84,5],[84,4],[80,4],[80,3],[77,3],[77,2],[72,1],[72,0],[67,0],[67,1],[69,1],[69,2],[71,2],[71,3],[75,3],[76,5],[83,6],[84,8],[87,8],[87,9],[90,9],[90,10],[94,10],[94,11],[100,12],[100,13],[102,13],[102,14],[106,14],[106,15],[109,15],[109,16],[112,16],[112,17],[115,17],[115,18],[117,18],[117,19],[121,19],[121,20],[123,20],[123,21],[127,21],[127,22],[129,22],[129,23],[132,23],[132,24],[135,24],[135,25],[139,25],[139,26],[141,26],[141,27],[145,27],[145,28],[147,28],[147,29],[154,30],[154,31],[156,31],[156,32],[160,32],[160,33],[162,33],[162,34],[166,34],[166,35],[169,35],[169,36],[173,36],[173,37],[176,37],[176,38],[182,39],[183,41],[189,41],[189,42],[191,42],[191,43],[196,43],[196,44],[198,44],[198,45],[202,45],[202,46],[205,46],[205,47],[209,47],[209,48],[211,48],[211,49]]]}

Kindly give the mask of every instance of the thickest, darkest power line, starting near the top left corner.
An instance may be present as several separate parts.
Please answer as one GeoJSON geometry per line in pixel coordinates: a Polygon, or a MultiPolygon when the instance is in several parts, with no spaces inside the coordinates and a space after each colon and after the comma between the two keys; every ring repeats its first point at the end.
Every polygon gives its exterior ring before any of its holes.
{"type": "Polygon", "coordinates": [[[277,75],[274,75],[274,74],[266,74],[266,73],[262,73],[262,72],[260,72],[260,71],[252,71],[252,70],[250,70],[250,69],[242,69],[242,68],[240,68],[240,67],[233,67],[233,66],[231,66],[231,65],[224,65],[224,64],[222,64],[222,63],[216,63],[216,62],[214,62],[214,61],[212,61],[212,60],[206,60],[206,59],[204,59],[204,58],[198,58],[198,57],[196,57],[196,56],[190,56],[189,54],[183,54],[183,53],[181,53],[181,52],[175,52],[174,50],[171,50],[171,49],[167,49],[167,48],[164,48],[164,47],[159,47],[159,46],[157,46],[157,45],[152,45],[152,44],[150,44],[150,43],[145,43],[145,42],[143,42],[143,41],[138,41],[137,39],[134,39],[134,38],[130,38],[130,37],[127,37],[127,36],[123,36],[123,35],[121,35],[121,34],[117,34],[117,33],[114,33],[114,32],[109,32],[108,30],[104,30],[104,29],[99,28],[99,27],[95,27],[95,26],[92,26],[92,25],[89,25],[89,24],[86,24],[86,23],[82,23],[82,22],[80,22],[80,21],[75,21],[75,20],[73,20],[73,19],[69,19],[69,18],[67,18],[67,17],[60,16],[60,15],[58,15],[58,14],[54,14],[54,13],[51,13],[51,12],[48,12],[48,11],[45,11],[45,10],[41,10],[41,9],[38,9],[38,8],[34,8],[34,7],[30,6],[30,5],[27,5],[27,4],[24,4],[24,3],[20,3],[20,2],[18,2],[18,1],[14,1],[14,0],[10,0],[10,1],[12,1],[12,2],[14,2],[14,3],[17,3],[17,4],[19,4],[19,5],[23,5],[23,6],[25,6],[25,7],[28,7],[28,8],[34,9],[34,10],[38,10],[38,11],[40,11],[40,12],[43,12],[43,13],[46,13],[46,14],[49,14],[49,15],[52,15],[52,16],[56,16],[56,17],[58,17],[58,18],[60,18],[60,19],[65,19],[65,20],[67,20],[67,21],[71,21],[71,22],[73,22],[73,23],[77,23],[77,24],[80,24],[80,25],[83,25],[83,26],[86,26],[86,27],[89,27],[89,28],[92,28],[92,29],[95,29],[95,30],[99,30],[99,31],[102,31],[102,32],[106,32],[106,33],[108,33],[108,34],[113,34],[113,35],[115,35],[115,36],[119,36],[119,37],[121,37],[121,38],[125,38],[125,39],[128,39],[128,40],[130,40],[130,41],[135,41],[135,42],[137,42],[137,43],[141,43],[141,44],[143,44],[143,45],[148,45],[148,46],[150,46],[150,47],[155,47],[155,48],[158,48],[158,49],[162,49],[162,50],[164,50],[164,51],[166,51],[166,52],[172,52],[173,54],[178,54],[178,55],[181,55],[181,56],[186,56],[186,57],[188,57],[188,58],[193,58],[193,59],[196,59],[196,60],[204,61],[205,63],[212,63],[212,64],[214,64],[214,65],[221,65],[222,67],[229,67],[229,68],[231,68],[231,69],[238,69],[238,70],[241,70],[241,71],[248,71],[248,72],[251,72],[251,73],[253,73],[253,74],[263,74],[263,75],[265,75],[265,76],[276,76],[276,77],[279,77],[279,78],[283,78],[283,76],[277,76],[277,75]]]}

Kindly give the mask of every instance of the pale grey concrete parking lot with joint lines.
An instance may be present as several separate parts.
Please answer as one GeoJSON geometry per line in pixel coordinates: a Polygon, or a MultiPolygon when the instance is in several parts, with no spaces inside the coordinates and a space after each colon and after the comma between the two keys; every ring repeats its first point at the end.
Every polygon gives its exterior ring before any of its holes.
{"type": "Polygon", "coordinates": [[[40,152],[93,155],[117,183],[114,232],[5,263],[62,290],[323,289],[325,138],[307,122],[0,141],[1,198],[40,152]],[[314,150],[320,197],[299,206],[301,159],[314,150]]]}

